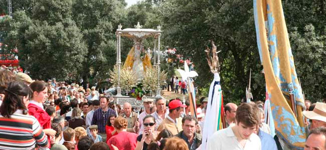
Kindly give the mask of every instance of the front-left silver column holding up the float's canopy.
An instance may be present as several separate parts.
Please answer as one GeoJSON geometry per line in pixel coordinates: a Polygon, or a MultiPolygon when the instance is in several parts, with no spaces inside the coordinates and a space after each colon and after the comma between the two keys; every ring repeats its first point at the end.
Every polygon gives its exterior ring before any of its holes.
{"type": "Polygon", "coordinates": [[[120,87],[120,77],[121,77],[121,28],[122,25],[118,25],[118,29],[119,30],[118,33],[118,38],[117,38],[117,67],[118,67],[118,85],[116,87],[117,93],[116,96],[122,96],[121,95],[121,87],[120,87]]]}

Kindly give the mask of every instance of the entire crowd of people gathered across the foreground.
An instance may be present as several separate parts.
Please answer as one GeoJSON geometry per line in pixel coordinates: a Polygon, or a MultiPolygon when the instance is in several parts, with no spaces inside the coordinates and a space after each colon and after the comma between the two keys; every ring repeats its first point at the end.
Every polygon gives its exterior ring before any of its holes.
{"type": "MultiPolygon", "coordinates": [[[[175,88],[175,90],[177,90],[175,88]]],[[[0,149],[201,149],[208,98],[197,118],[189,101],[143,99],[144,110],[119,105],[95,86],[41,81],[0,69],[0,149]]],[[[305,149],[325,149],[326,104],[311,104],[305,149]]],[[[206,149],[286,149],[264,123],[263,102],[227,103],[226,128],[216,131],[206,149]]]]}

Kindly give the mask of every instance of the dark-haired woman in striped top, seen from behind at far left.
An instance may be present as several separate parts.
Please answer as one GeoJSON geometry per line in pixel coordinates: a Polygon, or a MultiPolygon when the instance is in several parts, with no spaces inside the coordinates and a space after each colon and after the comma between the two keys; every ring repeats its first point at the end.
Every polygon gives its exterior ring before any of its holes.
{"type": "Polygon", "coordinates": [[[49,142],[39,121],[27,114],[32,90],[20,81],[13,81],[5,89],[6,96],[0,106],[0,149],[46,149],[49,142]]]}

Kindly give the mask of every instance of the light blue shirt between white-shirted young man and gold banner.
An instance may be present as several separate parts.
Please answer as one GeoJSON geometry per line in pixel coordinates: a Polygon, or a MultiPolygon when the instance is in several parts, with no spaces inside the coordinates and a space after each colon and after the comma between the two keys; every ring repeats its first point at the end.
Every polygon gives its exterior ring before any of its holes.
{"type": "Polygon", "coordinates": [[[259,129],[258,136],[261,142],[261,149],[263,150],[277,150],[276,142],[272,135],[259,129]]]}

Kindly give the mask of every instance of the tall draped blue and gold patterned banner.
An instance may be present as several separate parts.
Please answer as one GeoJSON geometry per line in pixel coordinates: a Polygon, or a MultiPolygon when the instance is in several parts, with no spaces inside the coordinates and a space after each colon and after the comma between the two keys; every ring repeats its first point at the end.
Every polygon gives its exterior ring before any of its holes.
{"type": "Polygon", "coordinates": [[[276,134],[291,149],[303,149],[304,99],[295,72],[281,0],[254,0],[254,17],[260,60],[276,134]],[[294,97],[291,109],[290,94],[294,97]]]}

